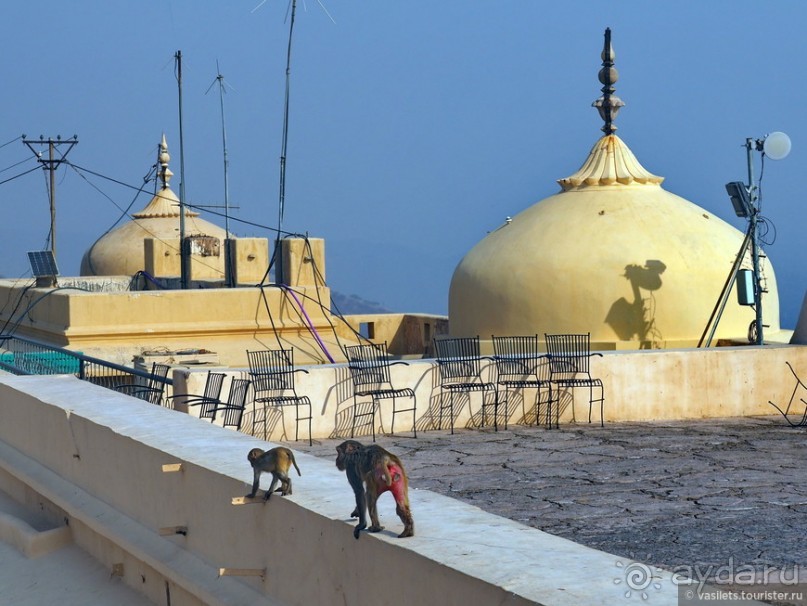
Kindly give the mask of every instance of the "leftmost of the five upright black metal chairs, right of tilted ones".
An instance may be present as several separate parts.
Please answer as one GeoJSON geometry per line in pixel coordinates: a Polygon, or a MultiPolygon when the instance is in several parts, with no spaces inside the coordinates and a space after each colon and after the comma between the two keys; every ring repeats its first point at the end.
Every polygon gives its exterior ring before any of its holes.
{"type": "Polygon", "coordinates": [[[249,375],[252,378],[252,387],[255,390],[255,411],[252,417],[252,433],[259,421],[264,423],[264,436],[266,435],[267,407],[278,408],[282,411],[288,406],[294,407],[294,440],[300,438],[300,421],[308,421],[308,444],[311,440],[311,400],[308,396],[298,396],[294,389],[294,373],[308,371],[304,368],[294,368],[294,351],[291,349],[265,349],[247,351],[249,360],[249,375]],[[263,405],[263,417],[258,418],[258,405],[263,405]],[[307,416],[300,412],[301,408],[308,408],[307,416]]]}

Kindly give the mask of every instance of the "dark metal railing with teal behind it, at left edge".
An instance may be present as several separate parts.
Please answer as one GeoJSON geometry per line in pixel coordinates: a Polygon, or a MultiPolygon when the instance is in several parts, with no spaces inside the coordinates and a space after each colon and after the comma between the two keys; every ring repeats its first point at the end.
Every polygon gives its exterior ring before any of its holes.
{"type": "Polygon", "coordinates": [[[0,368],[15,375],[74,375],[108,389],[149,381],[173,385],[170,377],[155,377],[145,370],[13,335],[0,335],[0,368]]]}

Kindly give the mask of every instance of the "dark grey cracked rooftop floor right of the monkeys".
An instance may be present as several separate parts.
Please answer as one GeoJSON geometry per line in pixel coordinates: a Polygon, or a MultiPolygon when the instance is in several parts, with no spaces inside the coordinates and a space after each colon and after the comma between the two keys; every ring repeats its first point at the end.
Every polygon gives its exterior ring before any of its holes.
{"type": "MultiPolygon", "coordinates": [[[[333,459],[342,440],[285,444],[333,459]]],[[[727,566],[799,567],[807,578],[807,429],[781,417],[510,425],[377,443],[401,457],[410,490],[595,549],[702,579],[727,566]]]]}

